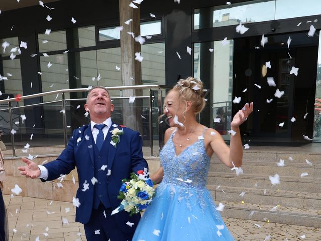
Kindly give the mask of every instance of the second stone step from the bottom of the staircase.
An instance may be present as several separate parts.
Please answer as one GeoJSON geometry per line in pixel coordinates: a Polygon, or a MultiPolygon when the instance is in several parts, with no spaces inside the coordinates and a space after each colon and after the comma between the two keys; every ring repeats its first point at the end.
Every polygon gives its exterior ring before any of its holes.
{"type": "Polygon", "coordinates": [[[321,194],[309,192],[294,192],[259,188],[243,188],[230,186],[207,185],[215,201],[252,203],[261,205],[280,205],[305,209],[320,209],[321,194]],[[244,196],[240,196],[245,192],[244,196]]]}

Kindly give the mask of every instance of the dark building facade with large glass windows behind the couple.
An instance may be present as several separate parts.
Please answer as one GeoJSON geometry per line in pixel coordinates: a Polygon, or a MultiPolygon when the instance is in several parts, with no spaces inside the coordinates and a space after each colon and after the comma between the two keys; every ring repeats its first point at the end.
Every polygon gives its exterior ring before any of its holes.
{"type": "MultiPolygon", "coordinates": [[[[122,85],[119,38],[120,26],[126,23],[119,23],[118,1],[44,1],[44,6],[30,1],[28,7],[11,2],[0,3],[2,99],[96,84],[122,85]]],[[[231,117],[251,101],[254,112],[241,127],[245,142],[310,142],[303,135],[321,141],[321,116],[313,106],[315,97],[321,97],[320,1],[144,0],[136,5],[145,39],[143,84],[173,86],[180,78],[200,78],[209,90],[200,121],[222,129],[227,141],[231,117]],[[222,110],[221,123],[215,123],[222,110]]],[[[61,96],[25,100],[24,105],[57,98],[61,96]]],[[[71,128],[88,122],[79,104],[83,103],[70,104],[71,128]]],[[[59,108],[48,104],[17,110],[16,128],[26,136],[35,128],[41,135],[59,136],[59,108]],[[27,116],[24,123],[21,114],[27,116]]],[[[142,115],[144,111],[142,106],[142,115]]],[[[8,114],[0,115],[0,128],[9,134],[8,114]]]]}

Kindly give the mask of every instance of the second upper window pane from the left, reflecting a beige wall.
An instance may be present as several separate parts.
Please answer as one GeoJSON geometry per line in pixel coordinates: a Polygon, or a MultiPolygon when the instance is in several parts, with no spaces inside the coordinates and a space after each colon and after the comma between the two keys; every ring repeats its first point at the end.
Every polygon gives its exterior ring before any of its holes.
{"type": "Polygon", "coordinates": [[[66,31],[52,31],[49,35],[38,34],[39,52],[67,49],[66,31]]]}

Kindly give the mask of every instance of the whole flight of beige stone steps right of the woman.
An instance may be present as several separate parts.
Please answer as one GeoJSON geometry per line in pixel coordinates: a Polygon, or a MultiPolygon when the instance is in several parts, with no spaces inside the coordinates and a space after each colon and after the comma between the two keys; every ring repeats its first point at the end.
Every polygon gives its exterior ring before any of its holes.
{"type": "Polygon", "coordinates": [[[225,205],[222,216],[321,227],[319,153],[245,151],[242,168],[244,174],[236,176],[218,159],[211,160],[207,187],[216,203],[225,205]],[[285,166],[277,166],[280,159],[285,166]],[[304,172],[309,175],[300,177],[304,172]],[[272,185],[269,176],[276,173],[280,184],[272,185]]]}

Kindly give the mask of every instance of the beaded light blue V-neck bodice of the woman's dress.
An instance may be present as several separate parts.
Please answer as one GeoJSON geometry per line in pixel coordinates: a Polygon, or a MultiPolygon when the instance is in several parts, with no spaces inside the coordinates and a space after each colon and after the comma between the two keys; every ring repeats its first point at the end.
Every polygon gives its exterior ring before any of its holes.
{"type": "Polygon", "coordinates": [[[179,200],[184,198],[188,208],[195,204],[191,203],[194,200],[203,209],[205,207],[204,198],[208,196],[206,180],[210,157],[204,146],[204,132],[196,142],[176,155],[173,143],[174,131],[160,154],[164,176],[162,183],[157,188],[158,191],[162,193],[169,188],[171,197],[173,198],[177,194],[179,200]],[[193,196],[194,198],[192,198],[193,196]]]}

